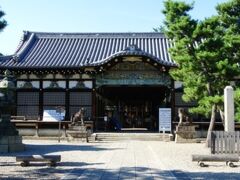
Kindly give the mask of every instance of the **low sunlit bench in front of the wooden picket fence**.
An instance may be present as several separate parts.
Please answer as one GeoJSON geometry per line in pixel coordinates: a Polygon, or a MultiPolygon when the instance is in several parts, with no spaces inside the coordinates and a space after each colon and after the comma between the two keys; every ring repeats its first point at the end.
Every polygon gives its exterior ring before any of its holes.
{"type": "Polygon", "coordinates": [[[204,162],[226,162],[229,167],[234,167],[233,162],[239,161],[237,154],[210,154],[210,155],[192,155],[192,161],[197,161],[201,167],[206,167],[204,162]]]}

